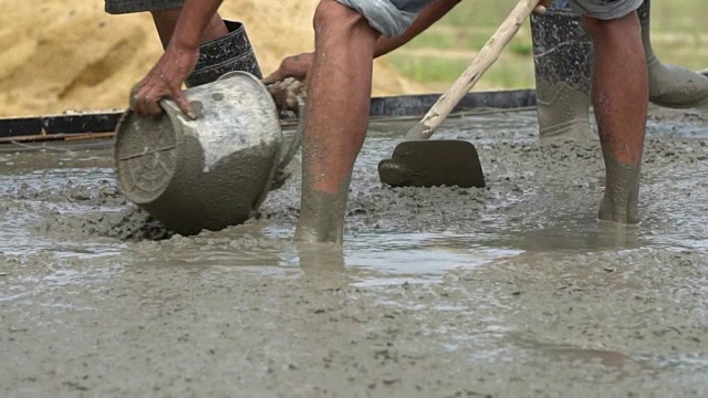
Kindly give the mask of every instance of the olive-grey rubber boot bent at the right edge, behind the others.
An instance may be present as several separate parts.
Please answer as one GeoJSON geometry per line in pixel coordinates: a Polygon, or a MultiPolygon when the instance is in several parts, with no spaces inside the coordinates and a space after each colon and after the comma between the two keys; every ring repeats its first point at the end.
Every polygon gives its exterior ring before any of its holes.
{"type": "Polygon", "coordinates": [[[708,112],[708,77],[684,67],[662,63],[652,50],[649,17],[652,2],[639,8],[642,41],[649,69],[649,101],[670,108],[697,108],[708,112]]]}

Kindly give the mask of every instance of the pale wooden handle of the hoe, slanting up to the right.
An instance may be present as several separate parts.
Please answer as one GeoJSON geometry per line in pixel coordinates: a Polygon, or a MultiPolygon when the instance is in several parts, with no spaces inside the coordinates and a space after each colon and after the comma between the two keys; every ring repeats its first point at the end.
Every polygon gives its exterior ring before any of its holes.
{"type": "Polygon", "coordinates": [[[452,83],[423,119],[413,126],[406,134],[406,139],[428,139],[438,128],[440,123],[452,112],[452,108],[469,93],[472,86],[487,72],[517,34],[523,21],[539,4],[539,0],[521,0],[501,23],[494,34],[485,43],[479,54],[467,66],[465,72],[452,83]]]}

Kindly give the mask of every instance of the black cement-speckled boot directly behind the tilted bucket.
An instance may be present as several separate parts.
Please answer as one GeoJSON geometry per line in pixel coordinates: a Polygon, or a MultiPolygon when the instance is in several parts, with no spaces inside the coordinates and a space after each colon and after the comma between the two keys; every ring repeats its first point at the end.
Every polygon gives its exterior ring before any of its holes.
{"type": "Polygon", "coordinates": [[[199,45],[199,61],[185,82],[187,87],[214,82],[232,71],[249,72],[263,78],[243,24],[226,20],[223,23],[229,29],[227,35],[199,45]]]}

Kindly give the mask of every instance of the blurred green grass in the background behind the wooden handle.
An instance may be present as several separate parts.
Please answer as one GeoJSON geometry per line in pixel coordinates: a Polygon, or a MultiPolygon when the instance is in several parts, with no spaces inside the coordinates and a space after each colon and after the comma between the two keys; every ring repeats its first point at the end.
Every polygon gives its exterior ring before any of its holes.
{"type": "MultiPolygon", "coordinates": [[[[386,59],[404,76],[423,83],[426,88],[445,90],[467,67],[516,3],[517,0],[462,1],[428,31],[386,59]]],[[[656,54],[666,63],[693,70],[708,67],[706,0],[654,0],[652,42],[656,54]]],[[[527,22],[476,88],[533,85],[533,48],[527,22]]]]}

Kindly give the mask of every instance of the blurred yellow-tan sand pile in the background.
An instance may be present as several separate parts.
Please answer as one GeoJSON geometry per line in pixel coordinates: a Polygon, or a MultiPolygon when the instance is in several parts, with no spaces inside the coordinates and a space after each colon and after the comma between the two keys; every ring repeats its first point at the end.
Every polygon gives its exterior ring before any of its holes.
{"type": "MultiPolygon", "coordinates": [[[[264,74],[289,54],[313,46],[317,0],[225,1],[225,18],[240,20],[264,74]]],[[[0,13],[0,116],[123,108],[127,93],[162,53],[148,13],[108,15],[92,0],[6,0],[0,13]]],[[[383,61],[374,94],[415,86],[383,61]]]]}

